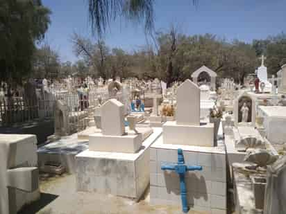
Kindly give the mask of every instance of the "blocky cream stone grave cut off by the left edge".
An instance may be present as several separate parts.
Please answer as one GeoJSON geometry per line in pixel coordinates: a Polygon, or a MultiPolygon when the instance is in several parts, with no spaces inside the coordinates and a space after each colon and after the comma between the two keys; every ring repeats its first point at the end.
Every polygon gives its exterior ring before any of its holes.
{"type": "Polygon", "coordinates": [[[0,213],[16,214],[40,199],[37,138],[31,134],[0,134],[0,213]]]}

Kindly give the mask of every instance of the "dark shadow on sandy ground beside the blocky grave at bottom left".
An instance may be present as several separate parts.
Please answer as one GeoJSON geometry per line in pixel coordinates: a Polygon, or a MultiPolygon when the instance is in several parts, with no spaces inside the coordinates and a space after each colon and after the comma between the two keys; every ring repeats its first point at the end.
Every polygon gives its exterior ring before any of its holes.
{"type": "MultiPolygon", "coordinates": [[[[58,195],[53,195],[49,193],[41,193],[40,199],[36,202],[33,202],[32,204],[29,204],[27,206],[24,206],[21,211],[18,212],[18,214],[34,214],[39,212],[44,206],[47,206],[53,200],[55,200],[58,197],[58,195]]],[[[47,213],[48,214],[48,213],[47,213]]]]}

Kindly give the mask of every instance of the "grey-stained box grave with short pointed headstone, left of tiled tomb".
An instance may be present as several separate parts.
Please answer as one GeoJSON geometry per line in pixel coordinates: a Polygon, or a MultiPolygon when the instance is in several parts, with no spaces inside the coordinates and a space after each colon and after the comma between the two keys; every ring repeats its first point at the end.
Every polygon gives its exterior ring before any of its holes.
{"type": "Polygon", "coordinates": [[[139,199],[149,184],[149,147],[160,129],[124,125],[124,105],[111,99],[101,106],[101,133],[90,134],[89,150],[76,155],[79,191],[139,199]]]}

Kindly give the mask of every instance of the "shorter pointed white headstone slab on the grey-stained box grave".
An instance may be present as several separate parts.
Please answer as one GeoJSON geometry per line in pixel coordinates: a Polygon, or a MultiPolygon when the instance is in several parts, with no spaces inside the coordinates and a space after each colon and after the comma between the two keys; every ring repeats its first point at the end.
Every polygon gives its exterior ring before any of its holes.
{"type": "Polygon", "coordinates": [[[124,105],[118,100],[108,100],[101,106],[101,129],[103,135],[124,134],[124,105]]]}

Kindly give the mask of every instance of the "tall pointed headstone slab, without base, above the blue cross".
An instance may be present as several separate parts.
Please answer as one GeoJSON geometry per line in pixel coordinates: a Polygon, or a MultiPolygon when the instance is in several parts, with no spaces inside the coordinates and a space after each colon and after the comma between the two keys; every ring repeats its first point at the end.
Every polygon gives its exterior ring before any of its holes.
{"type": "Polygon", "coordinates": [[[176,123],[200,125],[200,89],[191,80],[185,80],[177,89],[176,123]]]}

